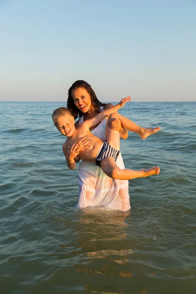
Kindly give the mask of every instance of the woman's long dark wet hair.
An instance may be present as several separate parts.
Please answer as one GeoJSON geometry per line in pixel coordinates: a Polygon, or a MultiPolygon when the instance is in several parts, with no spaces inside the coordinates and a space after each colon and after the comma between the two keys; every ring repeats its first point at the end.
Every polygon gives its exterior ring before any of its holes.
{"type": "Polygon", "coordinates": [[[70,112],[72,113],[74,119],[76,119],[78,116],[79,118],[81,116],[83,116],[84,114],[75,106],[74,102],[73,102],[73,98],[72,98],[72,91],[76,90],[77,88],[85,88],[86,91],[88,92],[88,94],[91,97],[91,103],[92,106],[94,107],[94,110],[96,112],[100,112],[100,107],[101,106],[105,106],[105,103],[101,103],[95,92],[93,91],[93,89],[91,88],[91,85],[89,85],[87,82],[83,81],[83,80],[78,80],[75,81],[72,85],[72,87],[70,87],[70,89],[68,90],[68,100],[67,100],[67,108],[70,110],[70,112]]]}

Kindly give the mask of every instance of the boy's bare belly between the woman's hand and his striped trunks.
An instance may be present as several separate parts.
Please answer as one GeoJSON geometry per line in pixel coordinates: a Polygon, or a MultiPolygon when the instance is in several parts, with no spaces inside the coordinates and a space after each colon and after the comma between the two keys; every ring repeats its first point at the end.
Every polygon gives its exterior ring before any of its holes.
{"type": "Polygon", "coordinates": [[[91,162],[95,164],[98,151],[100,147],[102,146],[102,144],[103,142],[98,137],[91,136],[90,141],[88,143],[89,147],[86,150],[81,151],[78,157],[83,161],[91,162]]]}

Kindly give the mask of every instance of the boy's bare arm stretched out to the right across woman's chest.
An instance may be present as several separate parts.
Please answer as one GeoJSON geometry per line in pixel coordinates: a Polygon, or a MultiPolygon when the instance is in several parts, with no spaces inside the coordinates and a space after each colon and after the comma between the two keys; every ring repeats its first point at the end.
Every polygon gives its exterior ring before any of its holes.
{"type": "MultiPolygon", "coordinates": [[[[85,122],[83,122],[84,124],[86,124],[88,126],[88,128],[91,128],[93,127],[94,125],[100,123],[100,121],[102,121],[103,119],[105,119],[108,115],[114,113],[114,112],[117,112],[120,108],[122,108],[124,106],[124,104],[128,101],[130,101],[131,98],[130,97],[126,97],[126,98],[123,98],[117,105],[111,107],[111,108],[108,108],[108,109],[105,109],[103,111],[101,111],[98,115],[96,115],[94,118],[92,119],[89,119],[85,122]]],[[[82,123],[82,124],[83,124],[82,123]]]]}

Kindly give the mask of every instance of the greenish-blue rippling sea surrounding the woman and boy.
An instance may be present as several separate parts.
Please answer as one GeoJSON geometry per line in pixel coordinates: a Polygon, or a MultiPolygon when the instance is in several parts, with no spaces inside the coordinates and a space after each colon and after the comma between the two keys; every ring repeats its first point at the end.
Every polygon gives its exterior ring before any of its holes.
{"type": "Polygon", "coordinates": [[[196,294],[196,102],[129,102],[161,130],[121,140],[131,210],[78,210],[51,120],[65,102],[0,102],[0,294],[196,294]]]}

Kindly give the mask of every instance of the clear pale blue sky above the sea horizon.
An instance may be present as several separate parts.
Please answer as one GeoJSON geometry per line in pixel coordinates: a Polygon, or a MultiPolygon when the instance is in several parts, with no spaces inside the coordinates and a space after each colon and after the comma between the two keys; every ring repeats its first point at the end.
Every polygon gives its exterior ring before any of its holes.
{"type": "Polygon", "coordinates": [[[196,0],[0,0],[0,101],[196,101],[196,0]]]}

